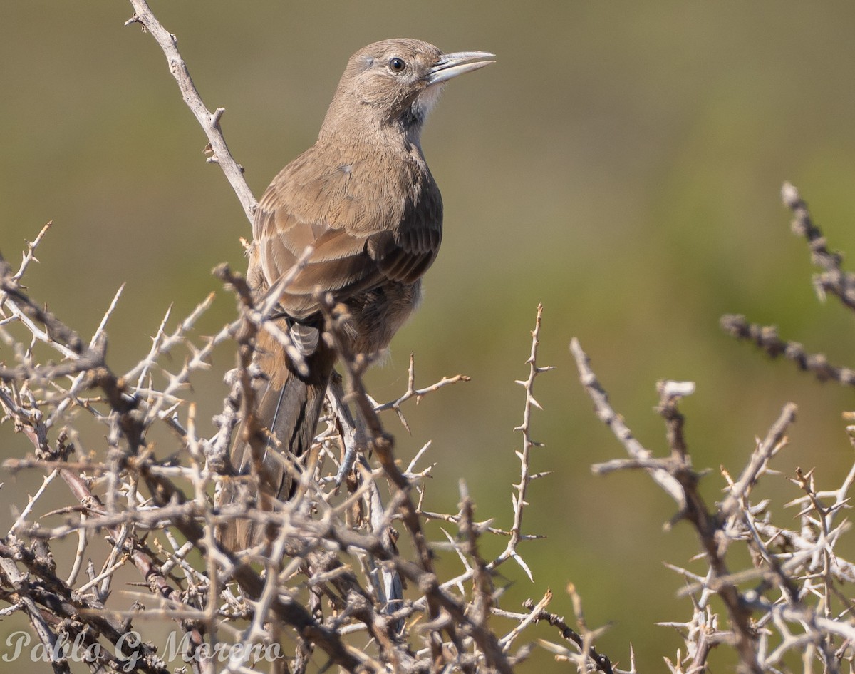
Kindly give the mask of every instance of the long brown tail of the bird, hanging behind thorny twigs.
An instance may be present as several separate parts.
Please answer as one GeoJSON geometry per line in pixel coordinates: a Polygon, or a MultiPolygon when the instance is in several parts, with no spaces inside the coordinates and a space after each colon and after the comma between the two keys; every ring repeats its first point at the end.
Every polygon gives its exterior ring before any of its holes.
{"type": "MultiPolygon", "coordinates": [[[[298,458],[310,451],[335,352],[319,340],[315,352],[306,358],[309,373],[300,375],[272,338],[263,333],[259,338],[257,360],[267,378],[256,393],[257,432],[248,433],[249,427],[242,423],[231,452],[239,475],[256,477],[226,482],[220,505],[254,499],[257,508],[271,511],[293,494],[292,470],[286,467],[283,455],[298,458]]],[[[233,551],[258,545],[268,537],[265,525],[248,517],[237,517],[217,528],[221,545],[233,551]]]]}

